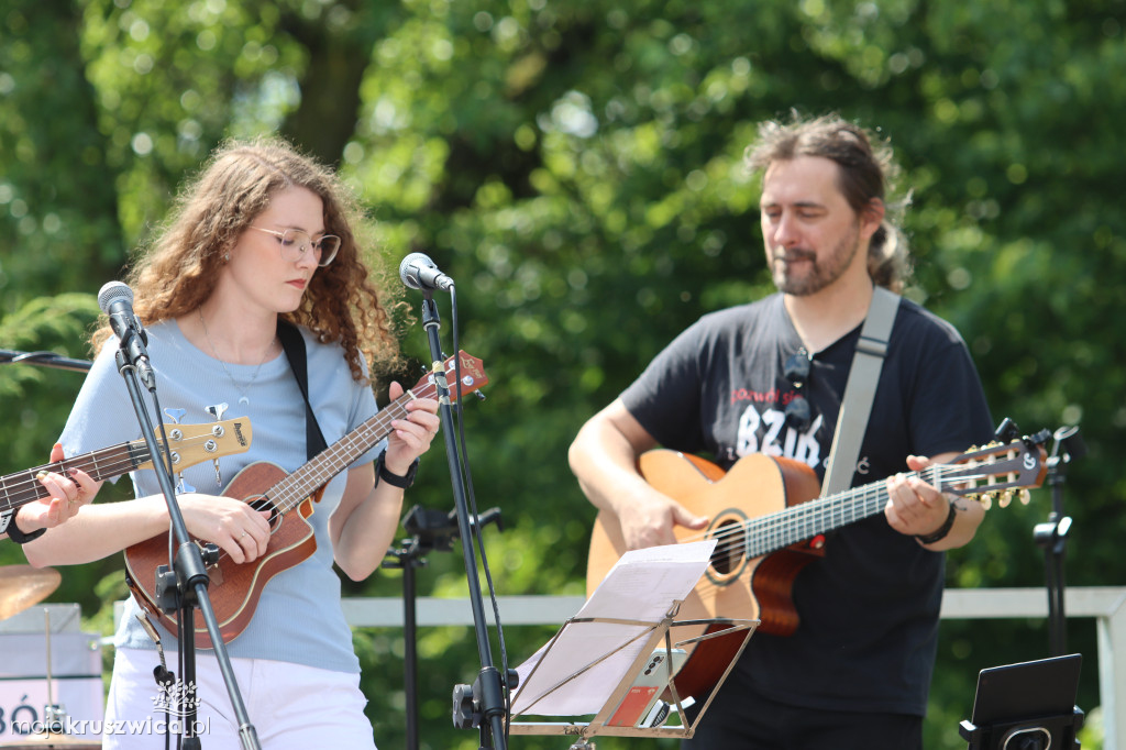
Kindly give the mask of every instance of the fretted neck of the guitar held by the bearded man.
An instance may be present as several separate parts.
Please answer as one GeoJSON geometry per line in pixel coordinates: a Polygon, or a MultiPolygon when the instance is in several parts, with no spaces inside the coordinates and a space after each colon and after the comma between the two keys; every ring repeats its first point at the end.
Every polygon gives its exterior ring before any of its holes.
{"type": "MultiPolygon", "coordinates": [[[[920,476],[936,485],[940,482],[940,474],[933,467],[912,472],[908,476],[920,476]]],[[[747,555],[758,557],[784,550],[881,514],[886,505],[887,486],[881,481],[760,516],[744,525],[747,555]]]]}

